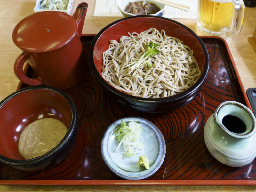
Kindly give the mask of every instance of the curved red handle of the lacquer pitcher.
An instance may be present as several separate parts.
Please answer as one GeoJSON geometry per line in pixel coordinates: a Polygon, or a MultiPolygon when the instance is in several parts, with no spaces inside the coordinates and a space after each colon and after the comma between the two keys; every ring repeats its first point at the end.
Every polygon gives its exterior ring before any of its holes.
{"type": "Polygon", "coordinates": [[[22,52],[14,63],[14,73],[15,75],[25,84],[28,85],[42,85],[43,81],[40,78],[28,78],[23,72],[23,65],[28,60],[28,55],[22,52]]]}

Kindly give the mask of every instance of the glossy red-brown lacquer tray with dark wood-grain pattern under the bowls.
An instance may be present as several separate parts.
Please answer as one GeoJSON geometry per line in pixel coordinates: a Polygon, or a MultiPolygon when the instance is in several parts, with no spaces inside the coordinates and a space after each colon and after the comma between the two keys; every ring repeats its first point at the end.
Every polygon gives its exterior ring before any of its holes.
{"type": "MultiPolygon", "coordinates": [[[[82,36],[84,54],[94,36],[82,36]]],[[[217,106],[235,100],[250,107],[226,42],[202,36],[210,56],[210,70],[200,94],[187,106],[162,114],[138,112],[108,96],[87,59],[84,80],[64,90],[79,115],[79,136],[66,160],[52,169],[22,172],[0,164],[0,184],[36,185],[251,185],[256,184],[255,160],[233,168],[218,162],[207,150],[203,129],[217,106]],[[124,180],[111,172],[101,156],[101,140],[110,124],[138,116],[156,124],[164,135],[166,156],[160,169],[144,180],[124,180]]],[[[88,57],[87,57],[88,58],[88,57]]],[[[28,67],[27,75],[32,76],[28,67]]],[[[18,89],[25,87],[19,84],[18,89]]]]}

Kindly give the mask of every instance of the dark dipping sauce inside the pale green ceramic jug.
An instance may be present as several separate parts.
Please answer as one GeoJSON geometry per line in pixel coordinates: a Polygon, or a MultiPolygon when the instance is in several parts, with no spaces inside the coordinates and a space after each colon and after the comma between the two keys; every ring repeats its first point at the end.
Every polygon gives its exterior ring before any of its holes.
{"type": "Polygon", "coordinates": [[[222,124],[233,133],[243,133],[246,130],[245,123],[237,116],[226,115],[222,119],[222,124]]]}

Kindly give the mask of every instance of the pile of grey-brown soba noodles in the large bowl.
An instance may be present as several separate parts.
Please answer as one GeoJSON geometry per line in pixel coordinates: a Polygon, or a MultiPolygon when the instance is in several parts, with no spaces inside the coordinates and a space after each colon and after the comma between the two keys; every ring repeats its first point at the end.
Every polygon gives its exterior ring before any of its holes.
{"type": "Polygon", "coordinates": [[[145,98],[168,97],[188,89],[199,78],[201,71],[193,51],[179,39],[155,28],[129,35],[119,42],[110,40],[103,52],[101,75],[116,89],[145,98]],[[144,63],[131,71],[130,62],[140,59],[149,42],[159,44],[160,50],[148,61],[153,67],[144,63]]]}

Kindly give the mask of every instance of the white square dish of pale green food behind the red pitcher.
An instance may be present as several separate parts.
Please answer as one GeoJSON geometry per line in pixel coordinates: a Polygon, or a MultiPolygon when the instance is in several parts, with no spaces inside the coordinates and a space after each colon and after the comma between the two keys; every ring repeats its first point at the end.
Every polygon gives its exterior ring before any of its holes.
{"type": "Polygon", "coordinates": [[[70,14],[73,0],[36,0],[34,12],[61,11],[70,14]]]}

